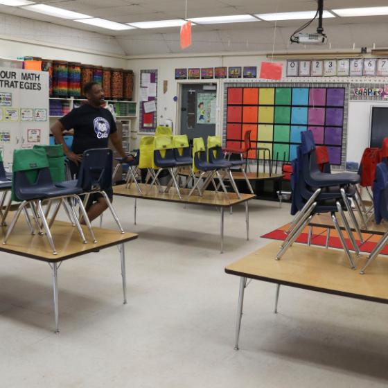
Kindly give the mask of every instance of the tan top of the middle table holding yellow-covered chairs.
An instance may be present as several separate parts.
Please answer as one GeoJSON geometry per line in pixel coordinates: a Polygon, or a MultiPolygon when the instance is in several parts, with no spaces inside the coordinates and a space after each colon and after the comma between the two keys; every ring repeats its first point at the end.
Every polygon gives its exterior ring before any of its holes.
{"type": "Polygon", "coordinates": [[[114,195],[139,198],[141,200],[179,202],[182,204],[197,204],[219,207],[233,206],[245,201],[252,200],[252,198],[256,197],[254,194],[241,193],[241,198],[238,199],[235,193],[225,194],[223,191],[218,191],[218,193],[215,193],[215,191],[205,191],[202,193],[202,197],[200,197],[198,192],[195,191],[195,193],[188,197],[190,190],[188,188],[184,188],[181,189],[182,200],[180,200],[175,188],[170,188],[168,193],[159,193],[159,190],[156,186],[153,186],[151,189],[149,188],[149,184],[139,184],[139,186],[141,188],[142,194],[139,194],[136,185],[133,183],[131,184],[130,188],[125,188],[125,184],[113,186],[113,193],[114,195]]]}

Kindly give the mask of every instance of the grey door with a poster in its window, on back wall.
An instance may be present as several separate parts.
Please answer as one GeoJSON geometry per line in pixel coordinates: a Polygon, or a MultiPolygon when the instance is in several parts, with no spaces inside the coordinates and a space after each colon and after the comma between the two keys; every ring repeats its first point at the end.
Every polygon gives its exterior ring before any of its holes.
{"type": "Polygon", "coordinates": [[[209,84],[182,85],[181,134],[188,139],[215,135],[217,86],[209,84]]]}

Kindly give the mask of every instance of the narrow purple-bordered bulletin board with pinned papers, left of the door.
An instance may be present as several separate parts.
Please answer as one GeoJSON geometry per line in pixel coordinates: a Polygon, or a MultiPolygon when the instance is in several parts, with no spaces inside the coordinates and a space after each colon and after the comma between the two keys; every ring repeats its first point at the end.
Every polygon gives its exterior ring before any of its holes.
{"type": "Polygon", "coordinates": [[[139,114],[141,132],[155,132],[157,127],[157,69],[140,71],[139,114]]]}

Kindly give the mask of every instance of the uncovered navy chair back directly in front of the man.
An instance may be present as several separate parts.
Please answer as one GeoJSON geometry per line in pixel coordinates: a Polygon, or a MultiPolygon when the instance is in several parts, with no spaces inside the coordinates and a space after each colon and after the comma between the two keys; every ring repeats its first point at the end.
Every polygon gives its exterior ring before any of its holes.
{"type": "Polygon", "coordinates": [[[91,148],[82,156],[77,186],[83,191],[105,191],[112,186],[113,151],[91,148]]]}

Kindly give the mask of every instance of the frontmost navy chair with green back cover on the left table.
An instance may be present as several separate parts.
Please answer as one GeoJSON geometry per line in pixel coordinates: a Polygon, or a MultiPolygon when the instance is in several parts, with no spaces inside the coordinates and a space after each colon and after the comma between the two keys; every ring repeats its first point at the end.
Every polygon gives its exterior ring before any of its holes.
{"type": "MultiPolygon", "coordinates": [[[[59,147],[62,148],[62,145],[60,145],[59,147]]],[[[47,148],[47,150],[48,153],[52,152],[52,149],[50,148],[47,148]]],[[[61,152],[63,155],[63,150],[61,150],[61,152]]],[[[60,159],[62,160],[62,171],[60,173],[63,173],[64,159],[63,157],[61,157],[60,159]]],[[[53,254],[57,254],[53,242],[53,236],[51,235],[50,231],[50,226],[55,216],[51,219],[50,224],[48,224],[46,218],[47,215],[44,213],[42,207],[42,202],[53,200],[58,200],[58,204],[55,209],[55,214],[58,213],[61,204],[64,204],[64,207],[70,217],[71,222],[76,224],[83,243],[87,243],[82,228],[80,227],[80,222],[78,221],[78,218],[76,216],[76,212],[73,209],[72,201],[74,200],[75,202],[78,202],[80,212],[85,218],[89,230],[91,230],[91,225],[89,219],[87,218],[85,207],[83,206],[82,201],[78,196],[82,193],[82,188],[78,186],[57,186],[57,184],[53,182],[52,176],[54,175],[55,169],[51,172],[45,148],[34,148],[14,151],[12,200],[21,202],[21,204],[19,205],[19,208],[17,209],[14,217],[12,218],[10,227],[8,227],[6,236],[3,239],[3,244],[6,244],[10,234],[15,229],[15,225],[19,218],[19,215],[21,214],[21,211],[24,211],[24,214],[26,215],[26,221],[31,233],[35,233],[33,224],[30,220],[28,212],[26,211],[27,206],[30,206],[30,209],[33,212],[33,219],[35,220],[35,223],[39,230],[39,234],[43,234],[42,229],[44,229],[53,254]]]]}

